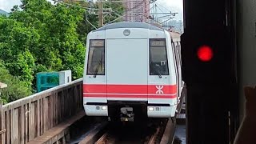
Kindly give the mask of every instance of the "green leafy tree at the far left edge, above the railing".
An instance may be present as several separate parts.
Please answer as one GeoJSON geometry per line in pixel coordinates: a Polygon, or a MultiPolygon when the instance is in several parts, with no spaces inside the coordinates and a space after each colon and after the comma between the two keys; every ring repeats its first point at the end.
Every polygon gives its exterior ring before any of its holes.
{"type": "Polygon", "coordinates": [[[34,74],[30,49],[37,39],[37,32],[26,28],[22,22],[0,17],[0,58],[5,60],[10,74],[20,76],[29,87],[34,74]]]}

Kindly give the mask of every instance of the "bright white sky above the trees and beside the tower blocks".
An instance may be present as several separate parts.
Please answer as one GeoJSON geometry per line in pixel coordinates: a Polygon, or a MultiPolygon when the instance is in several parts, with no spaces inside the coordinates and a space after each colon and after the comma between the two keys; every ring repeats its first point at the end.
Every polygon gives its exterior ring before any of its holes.
{"type": "MultiPolygon", "coordinates": [[[[50,1],[50,0],[48,0],[50,1]]],[[[177,12],[178,14],[174,19],[182,20],[183,18],[183,6],[182,0],[157,0],[158,5],[166,7],[166,9],[177,12]]],[[[0,9],[5,10],[6,12],[10,12],[10,9],[14,5],[21,4],[20,0],[0,0],[0,9]]]]}

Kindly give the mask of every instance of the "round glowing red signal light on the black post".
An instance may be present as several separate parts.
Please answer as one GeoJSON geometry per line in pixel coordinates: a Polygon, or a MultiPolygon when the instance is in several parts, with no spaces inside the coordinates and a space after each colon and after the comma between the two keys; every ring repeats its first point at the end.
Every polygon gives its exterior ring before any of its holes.
{"type": "Polygon", "coordinates": [[[200,46],[198,49],[198,58],[203,62],[208,62],[213,58],[214,52],[210,46],[200,46]]]}

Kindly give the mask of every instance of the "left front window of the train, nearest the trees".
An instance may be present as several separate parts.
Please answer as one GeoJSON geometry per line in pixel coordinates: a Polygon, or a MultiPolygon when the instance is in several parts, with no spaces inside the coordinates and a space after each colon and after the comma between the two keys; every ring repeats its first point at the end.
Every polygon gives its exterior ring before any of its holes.
{"type": "Polygon", "coordinates": [[[87,75],[105,75],[105,41],[90,40],[87,75]]]}

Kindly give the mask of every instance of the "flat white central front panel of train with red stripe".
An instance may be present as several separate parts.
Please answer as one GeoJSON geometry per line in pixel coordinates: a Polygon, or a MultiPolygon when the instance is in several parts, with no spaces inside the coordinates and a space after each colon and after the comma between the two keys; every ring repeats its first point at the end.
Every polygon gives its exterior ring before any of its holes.
{"type": "Polygon", "coordinates": [[[107,99],[147,101],[148,40],[107,39],[107,99]]]}

